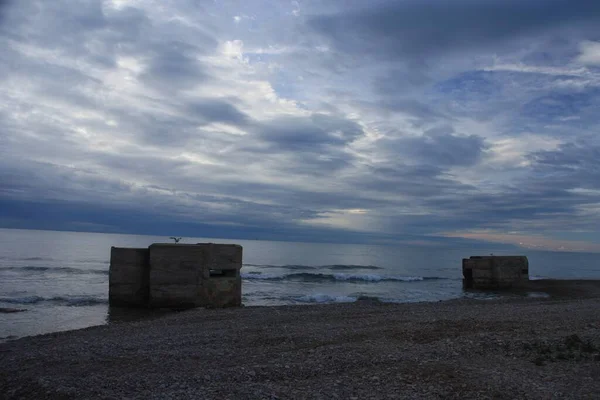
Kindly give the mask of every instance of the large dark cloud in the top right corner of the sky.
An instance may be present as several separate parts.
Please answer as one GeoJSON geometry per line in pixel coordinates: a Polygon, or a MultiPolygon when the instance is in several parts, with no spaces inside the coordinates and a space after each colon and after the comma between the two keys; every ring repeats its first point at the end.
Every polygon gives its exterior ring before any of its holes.
{"type": "Polygon", "coordinates": [[[486,49],[557,27],[589,29],[599,20],[595,0],[409,0],[314,17],[310,25],[345,52],[406,61],[486,49]]]}

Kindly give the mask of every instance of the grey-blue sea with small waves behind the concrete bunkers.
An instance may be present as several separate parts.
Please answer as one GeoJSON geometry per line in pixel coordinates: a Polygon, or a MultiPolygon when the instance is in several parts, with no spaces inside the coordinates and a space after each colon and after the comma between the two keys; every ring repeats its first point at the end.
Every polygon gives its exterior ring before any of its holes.
{"type": "MultiPolygon", "coordinates": [[[[151,317],[108,305],[110,248],[168,243],[168,237],[0,229],[0,340],[151,317]],[[10,310],[21,312],[6,312],[10,310]]],[[[464,291],[461,260],[523,254],[532,279],[600,279],[600,254],[469,247],[294,243],[183,238],[243,246],[244,306],[436,302],[544,296],[464,291]]]]}

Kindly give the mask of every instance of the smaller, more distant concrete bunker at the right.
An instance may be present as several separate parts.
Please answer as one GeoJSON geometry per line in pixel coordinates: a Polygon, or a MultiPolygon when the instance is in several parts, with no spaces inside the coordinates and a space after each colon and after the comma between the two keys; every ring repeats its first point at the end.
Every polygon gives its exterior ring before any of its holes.
{"type": "Polygon", "coordinates": [[[463,259],[463,283],[469,289],[510,289],[527,284],[525,256],[473,256],[463,259]]]}

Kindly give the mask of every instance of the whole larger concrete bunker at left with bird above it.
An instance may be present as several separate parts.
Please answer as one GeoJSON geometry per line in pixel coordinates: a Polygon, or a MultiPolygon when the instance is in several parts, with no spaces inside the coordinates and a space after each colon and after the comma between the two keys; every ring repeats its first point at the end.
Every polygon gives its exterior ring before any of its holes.
{"type": "Polygon", "coordinates": [[[229,307],[242,303],[242,247],[153,244],[111,249],[111,305],[151,308],[229,307]]]}

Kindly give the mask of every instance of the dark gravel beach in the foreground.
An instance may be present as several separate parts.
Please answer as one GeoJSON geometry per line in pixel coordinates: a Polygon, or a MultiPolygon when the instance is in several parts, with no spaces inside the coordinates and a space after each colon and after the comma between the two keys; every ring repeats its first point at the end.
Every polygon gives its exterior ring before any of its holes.
{"type": "Polygon", "coordinates": [[[600,298],[191,310],[0,344],[5,399],[598,399],[600,298]]]}

